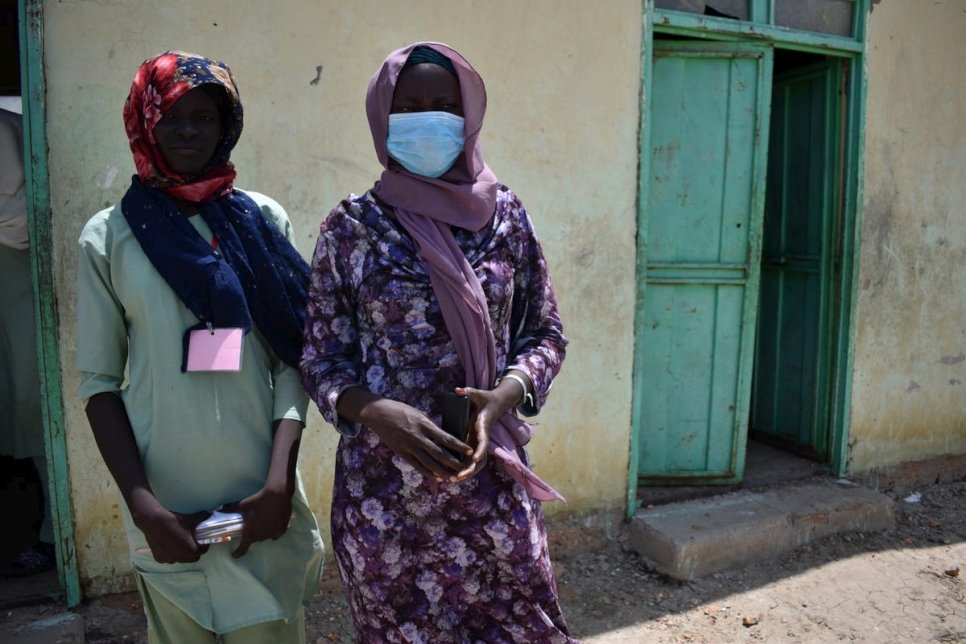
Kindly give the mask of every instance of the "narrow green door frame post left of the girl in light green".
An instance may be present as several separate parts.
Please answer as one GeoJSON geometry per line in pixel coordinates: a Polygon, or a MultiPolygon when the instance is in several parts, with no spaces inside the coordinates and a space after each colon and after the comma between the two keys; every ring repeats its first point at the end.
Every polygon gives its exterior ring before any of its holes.
{"type": "Polygon", "coordinates": [[[27,184],[27,220],[30,235],[30,270],[37,320],[37,360],[40,363],[40,398],[44,422],[44,451],[50,484],[51,521],[57,551],[57,571],[68,607],[80,603],[80,583],[74,547],[67,441],[61,396],[60,347],[55,298],[53,236],[51,234],[50,182],[47,166],[47,85],[44,76],[42,0],[21,0],[20,73],[23,96],[24,176],[27,184]]]}

